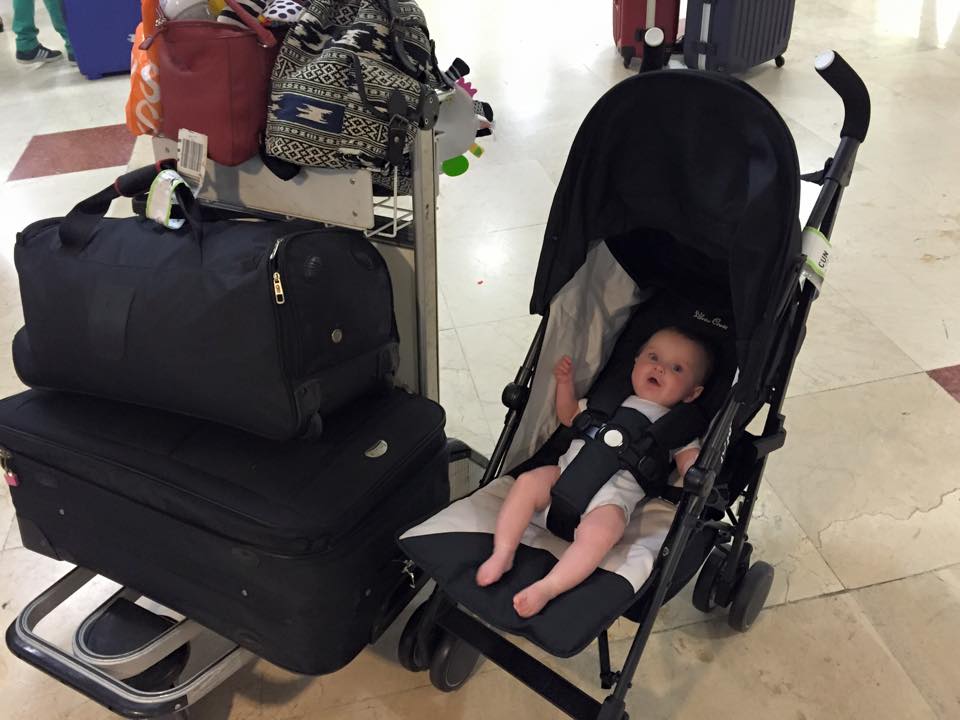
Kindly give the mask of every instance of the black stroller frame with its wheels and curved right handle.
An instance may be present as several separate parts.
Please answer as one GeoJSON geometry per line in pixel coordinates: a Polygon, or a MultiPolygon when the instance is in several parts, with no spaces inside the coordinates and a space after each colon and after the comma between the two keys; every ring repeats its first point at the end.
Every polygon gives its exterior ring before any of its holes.
{"type": "MultiPolygon", "coordinates": [[[[845,108],[841,140],[834,156],[826,161],[823,170],[801,176],[802,180],[822,186],[805,226],[805,235],[808,232],[820,234],[829,240],[844,189],[850,182],[857,150],[866,136],[870,101],[862,80],[839,54],[823,53],[817,58],[816,69],[841,96],[845,108]]],[[[762,434],[759,437],[743,434],[743,440],[752,445],[750,462],[744,464],[752,467],[748,469],[739,493],[742,502],[737,511],[734,513],[730,507],[738,498],[726,497],[724,488],[717,486],[716,481],[730,446],[735,420],[746,411],[749,421],[762,405],[743,408],[741,403],[734,401],[731,392],[708,430],[696,464],[684,477],[682,497],[673,524],[649,579],[634,597],[632,609],[640,610],[642,620],[621,670],[611,669],[607,630],[598,636],[601,687],[613,688],[602,703],[460,609],[439,587],[407,625],[404,631],[406,644],[401,640],[401,662],[411,670],[429,667],[434,686],[453,691],[466,682],[483,655],[572,718],[626,720],[629,717],[626,713],[627,691],[657,613],[668,599],[671,581],[688,541],[696,531],[706,527],[716,531],[714,549],[700,574],[694,604],[698,609],[708,611],[718,605],[726,607],[733,603],[731,626],[740,631],[748,630],[763,607],[773,581],[770,565],[762,562],[750,565],[753,550],[748,541],[750,520],[766,458],[786,440],[783,401],[803,343],[807,317],[819,294],[821,282],[822,274],[812,270],[809,263],[803,264],[796,270],[794,282],[790,285],[793,289],[779,306],[789,321],[780,326],[773,345],[780,350],[763,378],[763,387],[772,388],[772,392],[767,398],[769,408],[762,434]],[[729,522],[705,519],[704,512],[708,509],[717,511],[721,517],[725,513],[729,522]],[[730,546],[724,549],[727,542],[730,546]]],[[[514,382],[504,389],[503,403],[508,412],[481,485],[489,483],[503,471],[504,459],[530,393],[546,325],[545,315],[514,382]]]]}

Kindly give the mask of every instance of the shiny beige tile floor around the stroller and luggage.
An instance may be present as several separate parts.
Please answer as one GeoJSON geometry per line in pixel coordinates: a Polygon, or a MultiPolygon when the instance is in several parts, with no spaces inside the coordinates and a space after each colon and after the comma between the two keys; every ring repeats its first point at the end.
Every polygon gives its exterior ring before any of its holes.
{"type": "MultiPolygon", "coordinates": [[[[627,76],[604,3],[424,0],[442,60],[454,54],[494,103],[497,137],[442,184],[441,390],[449,430],[483,451],[500,389],[532,336],[526,314],[539,242],[580,120],[627,76]]],[[[42,132],[122,120],[126,81],[88,82],[65,63],[12,61],[0,0],[0,176],[42,132]]],[[[53,43],[42,11],[42,38],[53,43]]],[[[748,80],[781,111],[805,169],[835,145],[836,97],[812,69],[826,47],[862,74],[873,124],[835,233],[835,263],[810,321],[787,403],[789,439],[769,463],[753,525],[777,580],[756,626],[704,617],[689,588],[661,614],[633,717],[960,718],[960,405],[924,373],[960,364],[960,2],[799,0],[782,70],[748,80]]],[[[21,321],[17,229],[106,185],[113,170],[0,184],[0,336],[21,321]]],[[[809,196],[805,202],[809,206],[809,196]]],[[[6,345],[0,392],[20,385],[6,345]]],[[[0,491],[0,623],[67,570],[20,547],[0,491]]],[[[400,624],[343,671],[300,678],[260,662],[196,708],[247,720],[556,718],[489,663],[458,693],[395,661],[400,624]]],[[[633,626],[614,628],[622,658],[633,626]]],[[[597,697],[596,650],[550,661],[597,697]]],[[[109,713],[0,650],[0,718],[109,713]]]]}

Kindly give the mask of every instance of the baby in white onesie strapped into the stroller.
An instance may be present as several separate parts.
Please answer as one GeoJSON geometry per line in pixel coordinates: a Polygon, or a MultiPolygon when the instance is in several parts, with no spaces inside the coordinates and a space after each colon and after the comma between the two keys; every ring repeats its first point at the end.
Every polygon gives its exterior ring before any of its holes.
{"type": "MultiPolygon", "coordinates": [[[[711,365],[710,352],[700,341],[677,328],[659,330],[637,354],[630,374],[634,394],[622,404],[656,422],[674,405],[693,402],[700,396],[711,365]]],[[[569,427],[586,407],[586,401],[578,401],[574,394],[573,362],[569,357],[560,358],[553,374],[557,379],[557,417],[569,427]]],[[[595,431],[596,428],[591,432],[595,431]]],[[[546,527],[550,490],[583,446],[583,440],[574,440],[558,465],[534,468],[517,478],[497,517],[493,553],[477,570],[478,585],[497,582],[513,567],[517,545],[531,520],[546,527]]],[[[680,477],[693,465],[699,452],[698,441],[673,452],[680,477]]],[[[642,498],[643,490],[631,473],[621,470],[611,477],[590,501],[573,543],[553,569],[542,580],[514,595],[517,614],[536,615],[557,595],[588,578],[623,536],[630,515],[642,498]]]]}

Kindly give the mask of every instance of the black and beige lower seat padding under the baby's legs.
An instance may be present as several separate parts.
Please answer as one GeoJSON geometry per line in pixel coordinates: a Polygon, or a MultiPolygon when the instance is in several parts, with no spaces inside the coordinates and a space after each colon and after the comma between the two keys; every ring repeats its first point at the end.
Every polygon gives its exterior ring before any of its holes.
{"type": "Polygon", "coordinates": [[[491,586],[477,585],[477,568],[493,549],[497,514],[512,483],[509,476],[494,480],[407,530],[400,536],[400,545],[463,607],[552,655],[571,657],[633,604],[650,577],[676,508],[659,499],[643,502],[600,568],[540,613],[524,619],[513,609],[513,596],[546,575],[569,543],[530,525],[513,569],[491,586]]]}

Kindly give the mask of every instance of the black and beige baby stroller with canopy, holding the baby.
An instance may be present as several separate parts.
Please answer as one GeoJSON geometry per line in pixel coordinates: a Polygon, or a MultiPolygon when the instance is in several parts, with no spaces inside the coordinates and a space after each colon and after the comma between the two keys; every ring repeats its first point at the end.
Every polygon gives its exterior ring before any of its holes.
{"type": "Polygon", "coordinates": [[[842,97],[846,117],[835,156],[802,178],[783,120],[726,76],[644,73],[587,116],[537,269],[531,311],[543,321],[503,393],[506,423],[481,487],[400,537],[437,582],[405,628],[400,658],[408,669],[429,668],[437,688],[460,687],[482,654],[571,717],[626,718],[625,696],[657,612],[698,571],[698,609],[729,607],[740,631],[756,619],[773,568],[751,560],[751,514],[766,457],[786,438],[784,396],[870,114],[866,88],[839,55],[821,55],[817,70],[842,97]],[[801,179],[822,186],[802,232],[801,179]],[[698,329],[718,348],[716,372],[695,403],[705,431],[699,459],[682,484],[638,508],[587,581],[522,619],[510,599],[556,563],[558,538],[531,528],[498,583],[480,588],[475,573],[511,479],[555,464],[570,440],[563,428],[553,432],[550,367],[569,354],[589,371],[577,390],[591,404],[622,398],[636,349],[666,325],[698,329]],[[751,434],[747,425],[764,405],[763,430],[751,434]],[[614,672],[607,629],[620,616],[639,630],[614,672]],[[613,693],[597,702],[489,626],[558,657],[597,638],[601,684],[613,693]]]}

